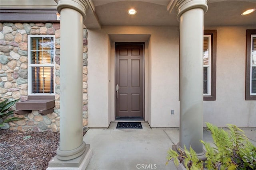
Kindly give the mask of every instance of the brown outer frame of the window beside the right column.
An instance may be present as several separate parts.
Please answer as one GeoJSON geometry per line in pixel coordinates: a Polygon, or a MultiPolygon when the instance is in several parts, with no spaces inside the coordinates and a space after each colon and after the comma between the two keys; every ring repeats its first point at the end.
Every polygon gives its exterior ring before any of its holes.
{"type": "Polygon", "coordinates": [[[210,35],[210,79],[209,79],[209,94],[204,94],[204,101],[214,101],[216,100],[216,54],[217,54],[217,30],[204,30],[204,35],[210,35]]]}

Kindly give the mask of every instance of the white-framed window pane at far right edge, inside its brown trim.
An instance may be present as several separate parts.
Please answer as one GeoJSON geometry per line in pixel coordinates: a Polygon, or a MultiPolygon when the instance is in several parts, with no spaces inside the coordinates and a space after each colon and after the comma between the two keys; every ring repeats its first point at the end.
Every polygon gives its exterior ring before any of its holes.
{"type": "Polygon", "coordinates": [[[251,35],[250,94],[256,95],[256,35],[251,35]]]}

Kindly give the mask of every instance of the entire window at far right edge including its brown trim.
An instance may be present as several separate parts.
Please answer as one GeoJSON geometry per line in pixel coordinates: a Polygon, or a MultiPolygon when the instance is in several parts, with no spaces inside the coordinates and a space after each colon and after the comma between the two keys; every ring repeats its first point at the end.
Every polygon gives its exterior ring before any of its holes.
{"type": "Polygon", "coordinates": [[[246,30],[246,100],[256,100],[256,29],[246,30]]]}

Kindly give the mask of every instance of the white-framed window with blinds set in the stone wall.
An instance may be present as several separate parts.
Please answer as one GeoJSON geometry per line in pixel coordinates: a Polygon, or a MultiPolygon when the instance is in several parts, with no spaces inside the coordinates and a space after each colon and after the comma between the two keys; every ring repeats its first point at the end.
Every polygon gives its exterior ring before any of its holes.
{"type": "Polygon", "coordinates": [[[28,35],[29,95],[54,94],[54,35],[28,35]]]}

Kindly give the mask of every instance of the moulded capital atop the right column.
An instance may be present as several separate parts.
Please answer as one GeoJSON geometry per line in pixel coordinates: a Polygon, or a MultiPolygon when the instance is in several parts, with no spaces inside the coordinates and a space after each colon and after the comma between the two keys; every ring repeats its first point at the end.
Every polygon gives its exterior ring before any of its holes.
{"type": "Polygon", "coordinates": [[[172,0],[167,6],[167,10],[171,13],[175,8],[177,12],[177,20],[180,20],[180,16],[191,9],[194,8],[202,8],[204,10],[204,14],[208,10],[207,6],[208,0],[172,0]]]}

